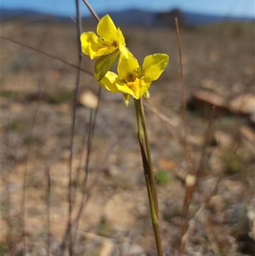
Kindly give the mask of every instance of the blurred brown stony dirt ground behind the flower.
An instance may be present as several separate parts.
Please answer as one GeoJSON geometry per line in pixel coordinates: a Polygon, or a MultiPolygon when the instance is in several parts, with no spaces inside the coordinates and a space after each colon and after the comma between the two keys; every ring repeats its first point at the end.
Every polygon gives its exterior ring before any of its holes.
{"type": "MultiPolygon", "coordinates": [[[[1,29],[6,38],[78,65],[75,24],[17,20],[2,22],[1,29]]],[[[188,188],[185,174],[196,173],[198,167],[201,171],[185,216],[188,229],[181,255],[254,255],[252,113],[216,114],[205,143],[210,114],[202,115],[203,105],[194,106],[192,101],[201,89],[227,103],[236,96],[254,93],[254,23],[222,23],[180,31],[187,151],[182,139],[182,84],[175,31],[121,29],[140,63],[149,54],[170,56],[168,67],[150,87],[151,97],[145,102],[164,255],[178,255],[188,188]]],[[[96,31],[96,27],[83,24],[83,31],[96,31]]],[[[84,56],[82,68],[92,73],[93,61],[84,56]]],[[[20,255],[24,248],[31,256],[57,255],[68,223],[76,81],[75,68],[1,40],[3,255],[20,255]]],[[[94,77],[81,74],[80,95],[88,90],[98,94],[98,89],[94,77]]],[[[73,229],[73,255],[156,255],[133,102],[127,108],[121,94],[101,91],[84,188],[90,113],[89,108],[78,105],[71,180],[73,218],[84,192],[87,200],[73,229]]],[[[68,255],[67,250],[65,253],[68,255]]]]}

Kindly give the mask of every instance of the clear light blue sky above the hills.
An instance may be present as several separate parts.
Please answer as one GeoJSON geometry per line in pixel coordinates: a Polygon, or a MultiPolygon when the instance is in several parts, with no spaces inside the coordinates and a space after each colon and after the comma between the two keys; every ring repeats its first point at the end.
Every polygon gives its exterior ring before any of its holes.
{"type": "MultiPolygon", "coordinates": [[[[0,0],[1,8],[41,11],[52,15],[75,15],[75,0],[0,0]]],[[[203,14],[254,18],[254,0],[91,0],[98,13],[138,8],[149,11],[166,11],[180,8],[203,14]]],[[[80,0],[82,15],[89,15],[80,0]]]]}

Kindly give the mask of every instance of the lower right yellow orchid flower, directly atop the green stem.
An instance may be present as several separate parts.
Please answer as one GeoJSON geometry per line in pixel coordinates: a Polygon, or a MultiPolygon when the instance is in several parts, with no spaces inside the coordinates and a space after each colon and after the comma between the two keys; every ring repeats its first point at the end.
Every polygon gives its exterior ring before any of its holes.
{"type": "MultiPolygon", "coordinates": [[[[128,106],[130,95],[139,100],[142,96],[149,98],[149,87],[152,81],[157,80],[168,64],[169,57],[166,54],[152,54],[145,57],[143,65],[139,66],[131,52],[129,58],[122,55],[119,58],[117,72],[107,72],[105,77],[99,81],[112,93],[122,92],[124,102],[128,106]]],[[[95,75],[96,79],[98,76],[95,75]]]]}

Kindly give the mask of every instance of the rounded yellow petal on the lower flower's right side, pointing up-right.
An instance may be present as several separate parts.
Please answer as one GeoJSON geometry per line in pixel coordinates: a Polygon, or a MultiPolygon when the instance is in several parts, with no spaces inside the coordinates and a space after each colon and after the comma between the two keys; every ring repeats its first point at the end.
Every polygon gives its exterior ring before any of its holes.
{"type": "Polygon", "coordinates": [[[169,57],[166,54],[153,54],[145,57],[141,75],[150,73],[152,81],[157,80],[168,64],[169,57]]]}

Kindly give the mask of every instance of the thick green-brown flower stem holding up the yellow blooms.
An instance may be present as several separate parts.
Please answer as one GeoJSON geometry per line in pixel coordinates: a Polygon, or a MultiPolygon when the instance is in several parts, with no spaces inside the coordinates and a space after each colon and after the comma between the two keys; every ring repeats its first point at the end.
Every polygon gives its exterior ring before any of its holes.
{"type": "Polygon", "coordinates": [[[142,100],[141,99],[134,100],[134,102],[135,102],[135,109],[136,109],[136,121],[137,121],[137,127],[138,127],[138,139],[140,142],[140,149],[141,149],[142,160],[143,160],[143,170],[144,170],[147,192],[148,192],[148,197],[149,197],[150,216],[152,219],[152,226],[153,226],[154,236],[155,236],[155,241],[156,241],[157,255],[163,256],[161,237],[160,237],[160,233],[159,233],[156,183],[155,183],[155,179],[154,179],[152,161],[151,161],[151,157],[150,157],[150,147],[149,147],[149,139],[148,139],[147,128],[146,128],[146,123],[145,123],[145,115],[144,115],[144,111],[143,111],[142,100]],[[145,149],[143,146],[140,118],[141,118],[142,126],[143,126],[143,134],[144,134],[144,139],[145,139],[146,153],[145,153],[145,149]]]}

